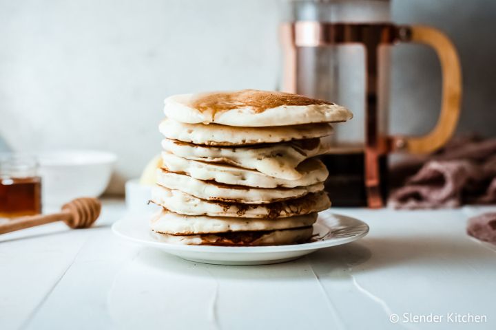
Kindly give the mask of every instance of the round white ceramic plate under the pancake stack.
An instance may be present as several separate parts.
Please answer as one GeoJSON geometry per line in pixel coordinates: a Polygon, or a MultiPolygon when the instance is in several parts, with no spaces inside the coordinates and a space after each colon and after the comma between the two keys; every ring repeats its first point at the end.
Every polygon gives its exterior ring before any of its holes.
{"type": "Polygon", "coordinates": [[[136,216],[117,221],[112,225],[112,230],[124,239],[161,249],[189,261],[217,265],[264,265],[291,261],[322,248],[356,241],[369,232],[369,226],[358,219],[332,214],[327,210],[320,212],[316,224],[313,225],[316,241],[295,245],[253,247],[163,243],[153,238],[147,219],[137,219],[136,216]]]}

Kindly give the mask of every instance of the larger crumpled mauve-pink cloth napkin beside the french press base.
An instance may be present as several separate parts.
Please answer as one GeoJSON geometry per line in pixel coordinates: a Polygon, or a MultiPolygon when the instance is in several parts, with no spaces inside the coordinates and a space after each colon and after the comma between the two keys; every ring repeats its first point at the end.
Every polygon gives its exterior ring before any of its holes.
{"type": "Polygon", "coordinates": [[[453,140],[426,159],[393,167],[391,178],[400,185],[389,197],[389,206],[393,208],[453,208],[465,203],[496,203],[496,139],[453,140]],[[409,173],[415,174],[405,179],[404,175],[409,173]]]}

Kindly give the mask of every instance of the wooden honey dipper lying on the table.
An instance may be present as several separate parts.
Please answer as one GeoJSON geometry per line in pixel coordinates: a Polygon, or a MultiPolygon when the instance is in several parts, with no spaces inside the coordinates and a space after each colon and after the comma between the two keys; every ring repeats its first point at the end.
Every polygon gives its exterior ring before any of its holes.
{"type": "Polygon", "coordinates": [[[59,213],[19,217],[7,223],[0,223],[0,234],[56,221],[63,221],[72,229],[88,228],[98,219],[100,210],[101,203],[98,199],[77,198],[62,206],[59,213]]]}

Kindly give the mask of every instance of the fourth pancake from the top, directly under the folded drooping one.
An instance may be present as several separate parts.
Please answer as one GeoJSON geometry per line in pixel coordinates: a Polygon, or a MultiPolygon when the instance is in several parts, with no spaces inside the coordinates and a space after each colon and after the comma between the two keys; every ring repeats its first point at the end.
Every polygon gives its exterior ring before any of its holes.
{"type": "MultiPolygon", "coordinates": [[[[220,184],[234,184],[258,188],[293,188],[324,182],[329,175],[324,163],[309,158],[298,164],[296,170],[301,178],[296,180],[269,177],[257,170],[249,170],[228,164],[216,164],[185,159],[172,153],[162,153],[162,167],[170,172],[185,173],[199,180],[213,180],[220,184]]],[[[155,172],[154,172],[155,173],[155,172]]]]}

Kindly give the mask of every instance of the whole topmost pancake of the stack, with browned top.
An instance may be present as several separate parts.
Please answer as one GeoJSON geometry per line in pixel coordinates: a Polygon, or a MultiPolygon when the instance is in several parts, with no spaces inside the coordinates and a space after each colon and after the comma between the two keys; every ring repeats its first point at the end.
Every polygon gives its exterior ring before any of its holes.
{"type": "Polygon", "coordinates": [[[353,117],[332,102],[254,89],[171,96],[165,99],[164,112],[178,122],[240,127],[345,122],[353,117]]]}

